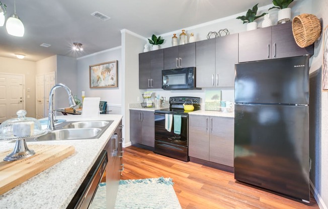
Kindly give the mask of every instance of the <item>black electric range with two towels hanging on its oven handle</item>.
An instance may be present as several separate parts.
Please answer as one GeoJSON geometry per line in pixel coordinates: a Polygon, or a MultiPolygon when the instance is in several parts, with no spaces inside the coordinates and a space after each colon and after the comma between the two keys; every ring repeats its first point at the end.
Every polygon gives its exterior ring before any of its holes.
{"type": "Polygon", "coordinates": [[[200,98],[190,96],[170,97],[170,108],[155,110],[154,152],[179,160],[189,161],[188,113],[191,111],[184,110],[184,103],[192,104],[194,111],[200,110],[200,98]],[[171,126],[168,126],[168,121],[171,122],[171,126]]]}

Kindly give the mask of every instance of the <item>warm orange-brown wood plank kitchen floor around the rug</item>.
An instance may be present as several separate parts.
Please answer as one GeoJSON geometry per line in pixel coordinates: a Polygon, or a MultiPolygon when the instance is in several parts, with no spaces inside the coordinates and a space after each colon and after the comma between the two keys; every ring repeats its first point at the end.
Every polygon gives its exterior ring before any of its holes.
{"type": "Polygon", "coordinates": [[[137,147],[124,148],[121,179],[171,177],[182,208],[319,208],[235,182],[233,173],[183,162],[137,147]]]}

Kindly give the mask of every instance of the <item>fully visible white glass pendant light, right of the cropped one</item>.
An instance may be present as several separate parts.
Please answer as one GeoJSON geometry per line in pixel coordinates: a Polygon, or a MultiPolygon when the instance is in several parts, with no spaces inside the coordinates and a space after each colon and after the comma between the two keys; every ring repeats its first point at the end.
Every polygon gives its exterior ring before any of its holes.
{"type": "Polygon", "coordinates": [[[6,29],[8,34],[12,36],[24,36],[24,25],[16,14],[16,0],[14,1],[14,14],[10,18],[8,18],[6,23],[6,29]]]}

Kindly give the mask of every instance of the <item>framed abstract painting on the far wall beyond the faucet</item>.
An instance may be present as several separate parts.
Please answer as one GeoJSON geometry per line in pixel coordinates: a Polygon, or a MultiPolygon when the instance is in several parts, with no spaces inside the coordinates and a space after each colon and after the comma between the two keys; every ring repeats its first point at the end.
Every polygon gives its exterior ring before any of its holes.
{"type": "Polygon", "coordinates": [[[89,66],[90,88],[118,87],[117,60],[89,66]]]}

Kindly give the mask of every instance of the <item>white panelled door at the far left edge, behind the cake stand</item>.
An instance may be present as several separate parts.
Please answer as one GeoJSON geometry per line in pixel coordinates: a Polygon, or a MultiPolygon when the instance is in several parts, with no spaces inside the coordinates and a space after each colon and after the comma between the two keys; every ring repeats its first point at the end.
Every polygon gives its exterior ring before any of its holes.
{"type": "Polygon", "coordinates": [[[24,109],[24,76],[0,73],[0,123],[24,109]]]}

